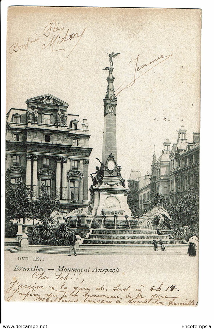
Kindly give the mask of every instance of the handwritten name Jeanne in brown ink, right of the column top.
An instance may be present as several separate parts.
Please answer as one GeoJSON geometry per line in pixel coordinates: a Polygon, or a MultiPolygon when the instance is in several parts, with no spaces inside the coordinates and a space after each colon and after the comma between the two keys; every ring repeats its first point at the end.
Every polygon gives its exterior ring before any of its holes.
{"type": "Polygon", "coordinates": [[[148,63],[144,63],[144,64],[139,64],[139,56],[140,54],[137,55],[136,58],[132,58],[131,61],[129,62],[129,66],[131,66],[133,63],[134,63],[134,66],[133,66],[133,70],[132,70],[132,75],[131,75],[131,82],[126,85],[126,87],[123,87],[122,86],[124,85],[124,83],[127,81],[124,81],[122,83],[122,85],[120,85],[120,87],[116,90],[115,92],[115,97],[123,90],[127,89],[127,88],[130,88],[131,86],[133,86],[135,84],[135,81],[137,79],[139,79],[142,75],[144,75],[145,73],[149,72],[151,69],[153,69],[155,66],[159,65],[160,63],[166,61],[167,59],[169,59],[171,55],[167,55],[167,56],[163,56],[163,55],[160,55],[158,56],[157,58],[153,59],[152,61],[148,62],[148,63]],[[148,67],[148,68],[147,68],[148,67]],[[143,68],[146,68],[146,71],[142,70],[143,68]],[[140,74],[137,75],[137,73],[140,71],[140,74]],[[143,72],[142,72],[143,71],[143,72]]]}

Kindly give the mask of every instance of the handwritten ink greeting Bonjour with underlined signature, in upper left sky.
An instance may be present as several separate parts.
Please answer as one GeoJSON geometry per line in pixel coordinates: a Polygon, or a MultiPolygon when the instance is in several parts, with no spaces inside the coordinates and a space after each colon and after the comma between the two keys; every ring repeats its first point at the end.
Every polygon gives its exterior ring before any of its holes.
{"type": "Polygon", "coordinates": [[[21,50],[28,50],[32,44],[39,43],[42,50],[50,49],[51,51],[66,51],[66,58],[68,58],[81,40],[85,29],[86,27],[82,32],[73,32],[64,26],[61,26],[59,22],[52,20],[45,26],[42,34],[39,36],[36,34],[36,38],[28,37],[25,42],[13,43],[9,47],[9,54],[21,50]],[[69,44],[70,49],[65,47],[65,42],[66,44],[69,44]]]}

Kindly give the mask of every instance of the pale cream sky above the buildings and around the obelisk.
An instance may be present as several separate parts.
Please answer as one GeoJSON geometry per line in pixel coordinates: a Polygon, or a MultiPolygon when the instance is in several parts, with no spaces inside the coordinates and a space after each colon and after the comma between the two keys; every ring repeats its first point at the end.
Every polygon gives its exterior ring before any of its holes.
{"type": "Polygon", "coordinates": [[[150,173],[154,145],[159,157],[181,125],[190,142],[200,131],[200,10],[11,7],[9,17],[6,112],[46,93],[67,102],[89,124],[89,173],[102,158],[112,51],[120,53],[117,161],[126,180],[131,170],[150,173]]]}

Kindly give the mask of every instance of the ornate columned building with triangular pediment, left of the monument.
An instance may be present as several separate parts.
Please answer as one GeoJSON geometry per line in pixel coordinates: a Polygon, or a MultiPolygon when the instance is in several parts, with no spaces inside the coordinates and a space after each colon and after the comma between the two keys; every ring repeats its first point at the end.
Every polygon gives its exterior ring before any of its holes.
{"type": "Polygon", "coordinates": [[[21,179],[33,200],[40,187],[53,192],[64,212],[88,205],[88,125],[67,113],[68,104],[46,94],[26,100],[27,109],[6,116],[6,171],[21,179]]]}

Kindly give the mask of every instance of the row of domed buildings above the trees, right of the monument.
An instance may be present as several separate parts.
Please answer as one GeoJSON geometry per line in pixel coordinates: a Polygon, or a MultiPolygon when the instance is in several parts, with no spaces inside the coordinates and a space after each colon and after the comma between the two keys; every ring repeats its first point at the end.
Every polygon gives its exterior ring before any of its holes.
{"type": "Polygon", "coordinates": [[[158,159],[154,149],[150,176],[131,171],[129,189],[134,198],[139,198],[140,215],[145,213],[147,201],[152,200],[155,193],[169,197],[174,205],[179,203],[188,189],[199,195],[199,142],[199,133],[193,133],[193,142],[188,142],[186,130],[181,126],[172,149],[169,139],[163,143],[158,159]]]}

